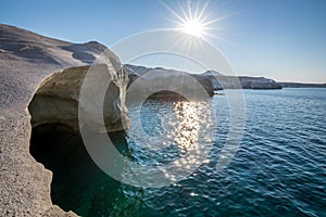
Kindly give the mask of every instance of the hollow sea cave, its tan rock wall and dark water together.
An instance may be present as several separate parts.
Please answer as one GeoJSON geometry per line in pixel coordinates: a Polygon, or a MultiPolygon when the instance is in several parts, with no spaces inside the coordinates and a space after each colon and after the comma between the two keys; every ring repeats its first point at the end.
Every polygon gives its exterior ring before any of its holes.
{"type": "MultiPolygon", "coordinates": [[[[32,117],[29,152],[52,171],[50,196],[54,205],[80,216],[99,216],[99,210],[109,216],[116,201],[124,197],[121,182],[96,165],[78,128],[79,90],[90,69],[97,73],[89,78],[92,80],[108,80],[113,76],[103,64],[77,66],[53,73],[39,85],[28,104],[32,117]]],[[[104,122],[105,127],[114,131],[108,132],[110,139],[123,153],[127,150],[125,132],[121,119],[113,119],[123,113],[117,105],[122,87],[123,84],[110,84],[105,102],[111,107],[104,104],[104,122]]]]}

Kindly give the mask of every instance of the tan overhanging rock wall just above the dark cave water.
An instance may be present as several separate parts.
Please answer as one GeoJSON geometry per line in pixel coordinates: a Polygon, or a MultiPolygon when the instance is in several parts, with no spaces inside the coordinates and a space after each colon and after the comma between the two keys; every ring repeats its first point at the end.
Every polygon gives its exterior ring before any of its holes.
{"type": "Polygon", "coordinates": [[[58,73],[52,74],[48,77],[38,90],[36,91],[29,106],[29,113],[32,115],[32,126],[36,127],[42,124],[64,124],[71,127],[75,131],[79,131],[78,123],[78,104],[84,111],[88,120],[87,125],[92,126],[96,131],[103,131],[101,129],[101,123],[96,118],[96,111],[92,110],[95,106],[101,106],[101,102],[93,100],[96,95],[90,95],[88,100],[91,103],[79,101],[80,87],[87,78],[87,81],[97,84],[99,81],[110,82],[109,91],[106,91],[104,100],[104,123],[106,131],[121,131],[123,130],[123,119],[125,126],[128,126],[127,110],[121,103],[124,102],[124,94],[127,86],[127,80],[121,79],[122,82],[116,82],[117,73],[113,69],[109,71],[105,64],[99,64],[93,66],[78,66],[71,67],[58,73]],[[88,75],[87,72],[90,69],[96,72],[95,74],[88,75]]]}

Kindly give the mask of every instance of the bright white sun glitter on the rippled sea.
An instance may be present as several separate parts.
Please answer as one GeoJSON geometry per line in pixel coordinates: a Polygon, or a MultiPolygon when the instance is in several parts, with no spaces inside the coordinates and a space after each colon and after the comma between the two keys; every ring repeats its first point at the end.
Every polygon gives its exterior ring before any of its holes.
{"type": "Polygon", "coordinates": [[[164,171],[165,177],[171,180],[209,162],[208,143],[212,141],[211,132],[214,131],[211,129],[212,111],[209,110],[206,102],[178,101],[173,105],[173,113],[176,116],[172,130],[173,141],[180,151],[180,156],[173,162],[174,169],[164,171]]]}

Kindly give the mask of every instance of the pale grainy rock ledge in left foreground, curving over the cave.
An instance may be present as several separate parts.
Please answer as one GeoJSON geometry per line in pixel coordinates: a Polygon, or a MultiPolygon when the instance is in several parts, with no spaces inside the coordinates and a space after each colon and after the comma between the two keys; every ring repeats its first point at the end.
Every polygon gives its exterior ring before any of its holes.
{"type": "MultiPolygon", "coordinates": [[[[29,153],[27,105],[45,78],[86,65],[103,49],[0,25],[0,216],[75,216],[51,203],[51,171],[29,153]]],[[[111,59],[118,60],[109,51],[103,62],[111,59]]]]}

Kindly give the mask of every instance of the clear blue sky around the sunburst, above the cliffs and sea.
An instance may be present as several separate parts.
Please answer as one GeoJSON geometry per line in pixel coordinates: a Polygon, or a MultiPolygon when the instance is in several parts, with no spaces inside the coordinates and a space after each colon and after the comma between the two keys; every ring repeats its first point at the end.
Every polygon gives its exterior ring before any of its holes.
{"type": "MultiPolygon", "coordinates": [[[[171,8],[175,1],[163,1],[171,8]]],[[[211,0],[210,38],[238,75],[326,82],[325,0],[211,0]]],[[[0,23],[73,42],[111,44],[131,34],[175,27],[156,0],[1,0],[0,23]]]]}

